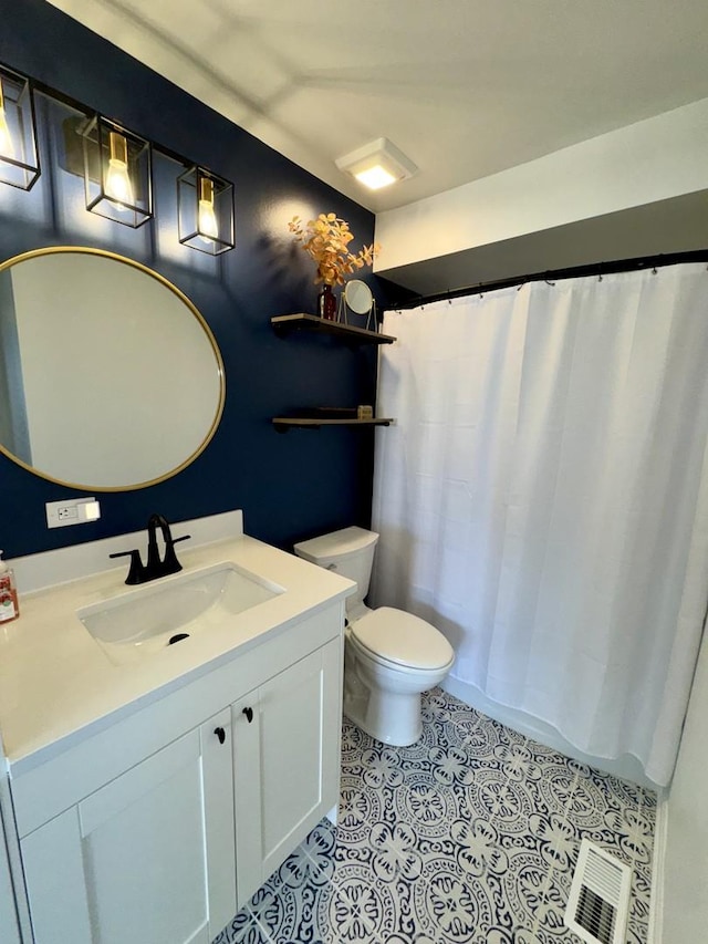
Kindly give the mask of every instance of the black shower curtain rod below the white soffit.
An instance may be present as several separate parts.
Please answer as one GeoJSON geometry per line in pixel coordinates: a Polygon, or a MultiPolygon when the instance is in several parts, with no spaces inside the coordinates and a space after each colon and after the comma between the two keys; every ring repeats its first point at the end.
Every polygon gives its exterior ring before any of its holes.
{"type": "Polygon", "coordinates": [[[593,262],[585,266],[574,266],[568,269],[550,269],[545,272],[533,272],[528,276],[513,276],[510,279],[499,279],[491,282],[478,282],[459,289],[448,289],[430,295],[416,295],[413,299],[392,304],[389,308],[404,311],[418,308],[435,301],[477,295],[496,289],[508,289],[511,286],[523,286],[527,282],[555,282],[561,279],[580,279],[585,276],[608,276],[614,272],[633,272],[639,269],[658,269],[663,266],[677,266],[681,262],[708,262],[708,249],[696,249],[689,252],[668,252],[659,256],[641,256],[634,259],[615,259],[608,262],[593,262]]]}

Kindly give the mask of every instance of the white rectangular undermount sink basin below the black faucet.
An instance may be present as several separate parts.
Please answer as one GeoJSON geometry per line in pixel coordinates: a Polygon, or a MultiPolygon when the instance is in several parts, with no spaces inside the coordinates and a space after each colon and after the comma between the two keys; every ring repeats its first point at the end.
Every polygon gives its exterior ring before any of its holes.
{"type": "Polygon", "coordinates": [[[284,588],[232,563],[164,577],[112,600],[76,611],[112,662],[125,664],[183,639],[228,626],[237,613],[271,600],[284,588]]]}

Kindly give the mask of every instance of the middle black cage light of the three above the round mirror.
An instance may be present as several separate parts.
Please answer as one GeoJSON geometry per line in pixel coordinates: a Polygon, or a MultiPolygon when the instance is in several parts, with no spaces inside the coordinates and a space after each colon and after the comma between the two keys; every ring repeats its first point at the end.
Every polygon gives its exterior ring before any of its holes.
{"type": "Polygon", "coordinates": [[[84,135],[86,209],[136,229],[153,216],[150,144],[96,115],[84,135]]]}

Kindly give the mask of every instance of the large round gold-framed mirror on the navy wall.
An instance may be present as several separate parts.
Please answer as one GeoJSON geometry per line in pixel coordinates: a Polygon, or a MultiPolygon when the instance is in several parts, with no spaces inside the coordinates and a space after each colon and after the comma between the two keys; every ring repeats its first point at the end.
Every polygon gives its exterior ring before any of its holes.
{"type": "Polygon", "coordinates": [[[76,247],[0,266],[0,450],[30,471],[153,485],[204,450],[223,396],[209,326],[157,272],[76,247]]]}

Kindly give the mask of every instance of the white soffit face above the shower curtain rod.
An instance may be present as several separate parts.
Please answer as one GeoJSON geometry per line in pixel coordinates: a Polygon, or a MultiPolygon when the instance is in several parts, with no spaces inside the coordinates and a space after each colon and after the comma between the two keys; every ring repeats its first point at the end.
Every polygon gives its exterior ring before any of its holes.
{"type": "Polygon", "coordinates": [[[708,98],[378,214],[375,270],[707,190],[706,154],[708,98]]]}

